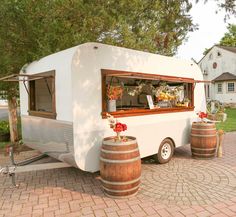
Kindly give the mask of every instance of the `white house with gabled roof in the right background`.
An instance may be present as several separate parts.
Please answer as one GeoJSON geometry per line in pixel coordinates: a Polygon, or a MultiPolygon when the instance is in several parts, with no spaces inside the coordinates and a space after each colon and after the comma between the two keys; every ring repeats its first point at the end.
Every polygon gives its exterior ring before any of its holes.
{"type": "Polygon", "coordinates": [[[214,45],[199,61],[208,100],[236,105],[236,47],[214,45]]]}

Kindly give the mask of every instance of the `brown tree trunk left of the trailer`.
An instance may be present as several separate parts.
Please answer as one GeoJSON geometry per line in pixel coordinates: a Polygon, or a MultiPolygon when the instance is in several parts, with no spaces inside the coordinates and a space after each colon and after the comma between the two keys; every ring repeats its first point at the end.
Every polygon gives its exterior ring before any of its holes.
{"type": "Polygon", "coordinates": [[[8,99],[8,110],[9,110],[9,126],[11,134],[11,142],[15,143],[19,140],[17,131],[17,100],[16,97],[8,99]]]}

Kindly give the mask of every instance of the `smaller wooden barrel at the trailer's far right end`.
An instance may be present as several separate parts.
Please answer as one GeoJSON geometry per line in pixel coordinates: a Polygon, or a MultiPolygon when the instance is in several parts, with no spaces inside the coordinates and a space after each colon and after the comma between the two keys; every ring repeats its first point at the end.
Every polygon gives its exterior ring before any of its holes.
{"type": "Polygon", "coordinates": [[[216,154],[217,135],[214,123],[193,122],[191,151],[194,158],[213,158],[216,154]]]}

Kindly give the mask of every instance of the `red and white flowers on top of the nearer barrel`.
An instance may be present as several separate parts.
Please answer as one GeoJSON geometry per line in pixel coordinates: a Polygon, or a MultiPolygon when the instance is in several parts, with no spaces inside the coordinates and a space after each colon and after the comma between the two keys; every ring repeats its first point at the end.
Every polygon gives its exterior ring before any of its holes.
{"type": "Polygon", "coordinates": [[[127,130],[127,125],[118,122],[112,115],[107,113],[107,120],[109,122],[110,128],[116,133],[115,140],[123,141],[126,140],[125,137],[121,138],[120,133],[127,130]]]}

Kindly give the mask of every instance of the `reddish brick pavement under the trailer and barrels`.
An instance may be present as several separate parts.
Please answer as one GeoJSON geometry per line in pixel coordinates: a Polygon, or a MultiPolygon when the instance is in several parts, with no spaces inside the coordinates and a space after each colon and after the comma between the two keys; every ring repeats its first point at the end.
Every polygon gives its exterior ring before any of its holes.
{"type": "Polygon", "coordinates": [[[223,151],[223,158],[195,160],[185,146],[168,164],[143,160],[140,191],[129,199],[106,197],[99,173],[75,168],[18,174],[18,188],[0,176],[0,217],[236,216],[236,133],[225,135],[223,151]]]}

